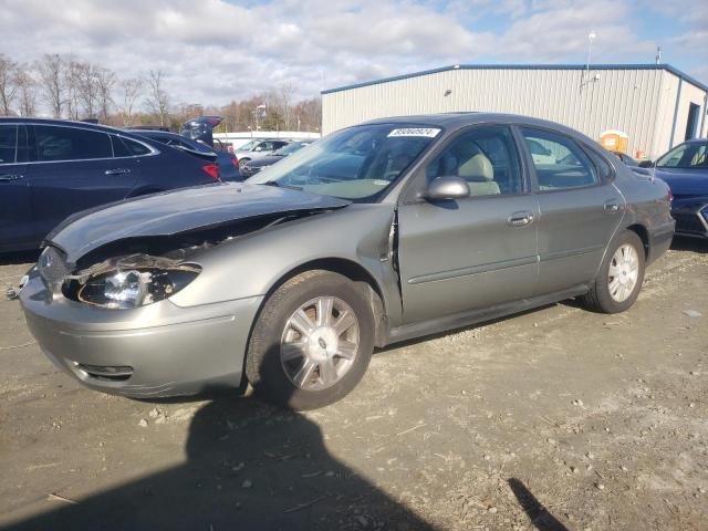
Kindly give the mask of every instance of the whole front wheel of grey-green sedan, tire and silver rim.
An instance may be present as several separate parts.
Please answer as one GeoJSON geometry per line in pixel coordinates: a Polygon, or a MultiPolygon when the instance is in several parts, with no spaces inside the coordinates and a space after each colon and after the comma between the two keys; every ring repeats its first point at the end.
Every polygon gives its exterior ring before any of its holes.
{"type": "Polygon", "coordinates": [[[246,375],[267,399],[292,409],[326,406],[362,379],[374,317],[360,285],[308,271],[281,285],[256,322],[246,375]]]}

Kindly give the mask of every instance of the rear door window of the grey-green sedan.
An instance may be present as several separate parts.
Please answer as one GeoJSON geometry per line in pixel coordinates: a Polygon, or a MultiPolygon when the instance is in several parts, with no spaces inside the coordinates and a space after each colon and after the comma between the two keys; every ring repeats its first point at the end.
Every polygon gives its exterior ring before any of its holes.
{"type": "Polygon", "coordinates": [[[523,127],[541,191],[565,190],[596,185],[597,170],[575,142],[548,131],[523,127]]]}

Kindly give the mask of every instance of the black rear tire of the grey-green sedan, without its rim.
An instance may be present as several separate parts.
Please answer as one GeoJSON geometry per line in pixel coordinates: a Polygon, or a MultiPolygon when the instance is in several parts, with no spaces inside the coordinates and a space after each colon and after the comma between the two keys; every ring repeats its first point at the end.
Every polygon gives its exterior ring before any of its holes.
{"type": "Polygon", "coordinates": [[[613,240],[607,248],[607,253],[600,267],[593,288],[580,298],[583,305],[593,312],[620,313],[627,310],[639,296],[644,283],[645,250],[642,239],[631,230],[625,230],[613,240]],[[610,267],[613,263],[615,252],[623,246],[632,246],[638,260],[638,273],[636,283],[631,294],[623,301],[615,300],[610,293],[610,267]]]}

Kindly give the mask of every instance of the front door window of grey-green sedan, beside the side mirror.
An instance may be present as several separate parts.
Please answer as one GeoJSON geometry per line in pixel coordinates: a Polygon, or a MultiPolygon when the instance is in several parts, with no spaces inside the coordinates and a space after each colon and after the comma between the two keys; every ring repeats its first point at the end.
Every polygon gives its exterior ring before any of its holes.
{"type": "Polygon", "coordinates": [[[437,177],[464,178],[472,196],[521,194],[519,157],[508,127],[475,127],[455,138],[426,168],[428,183],[437,177]]]}

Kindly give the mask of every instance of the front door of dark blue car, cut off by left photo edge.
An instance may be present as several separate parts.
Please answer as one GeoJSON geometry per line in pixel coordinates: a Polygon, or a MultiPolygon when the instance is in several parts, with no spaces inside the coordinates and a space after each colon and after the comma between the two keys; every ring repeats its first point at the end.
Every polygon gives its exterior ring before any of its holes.
{"type": "Polygon", "coordinates": [[[0,251],[34,246],[27,158],[25,126],[0,124],[0,251]]]}

